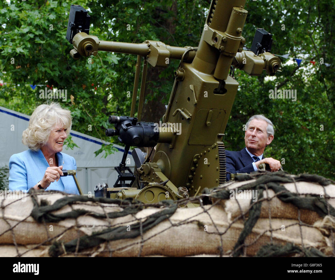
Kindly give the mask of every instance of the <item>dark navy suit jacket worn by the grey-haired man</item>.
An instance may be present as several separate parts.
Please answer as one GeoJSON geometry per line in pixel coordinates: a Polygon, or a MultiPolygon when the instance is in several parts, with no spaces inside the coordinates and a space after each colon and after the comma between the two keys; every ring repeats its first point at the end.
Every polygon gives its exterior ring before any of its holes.
{"type": "Polygon", "coordinates": [[[230,180],[229,173],[251,173],[254,172],[254,160],[248,154],[246,148],[238,152],[226,152],[226,181],[230,180]]]}

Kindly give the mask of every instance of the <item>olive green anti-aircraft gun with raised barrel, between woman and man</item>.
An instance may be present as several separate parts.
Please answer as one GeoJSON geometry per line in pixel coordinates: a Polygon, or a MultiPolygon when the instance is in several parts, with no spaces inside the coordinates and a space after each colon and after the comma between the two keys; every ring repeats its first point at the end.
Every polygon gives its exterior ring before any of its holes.
{"type": "Polygon", "coordinates": [[[125,145],[122,161],[115,167],[119,176],[114,188],[96,187],[95,196],[156,203],[195,196],[204,188],[225,182],[222,137],[239,85],[234,68],[254,76],[266,70],[273,76],[281,64],[269,52],[272,35],[264,29],[257,29],[251,50],[243,50],[246,40],[242,30],[248,13],[245,3],[246,0],[212,0],[198,47],[184,48],[152,40],[143,43],[99,40],[89,35],[87,11],[71,5],[66,39],[73,44],[70,54],[74,59],[96,56],[98,51],[137,55],[130,115],[109,116],[108,121],[115,128],[106,129],[107,136],[118,136],[125,145]],[[174,72],[175,81],[162,124],[141,121],[147,65],[167,67],[170,59],[178,59],[180,64],[174,72]],[[125,164],[131,146],[155,147],[151,149],[152,161],[151,153],[145,158],[140,149],[133,150],[136,177],[125,164]],[[132,188],[135,180],[137,187],[132,188]]]}

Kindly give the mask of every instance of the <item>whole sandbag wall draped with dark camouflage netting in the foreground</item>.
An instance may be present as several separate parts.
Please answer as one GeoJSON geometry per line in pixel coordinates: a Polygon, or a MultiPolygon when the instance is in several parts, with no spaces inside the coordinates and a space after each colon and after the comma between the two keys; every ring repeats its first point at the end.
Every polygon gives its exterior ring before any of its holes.
{"type": "Polygon", "coordinates": [[[333,181],[284,172],[158,204],[31,190],[0,199],[0,256],[335,256],[334,207],[333,181]]]}

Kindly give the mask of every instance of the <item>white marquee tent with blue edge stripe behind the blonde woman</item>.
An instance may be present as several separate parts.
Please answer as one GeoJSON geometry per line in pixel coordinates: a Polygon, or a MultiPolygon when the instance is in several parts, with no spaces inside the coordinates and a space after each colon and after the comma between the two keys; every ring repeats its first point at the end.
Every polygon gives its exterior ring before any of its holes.
{"type": "MultiPolygon", "coordinates": [[[[22,132],[28,127],[29,117],[27,115],[6,109],[0,106],[0,167],[7,166],[9,158],[13,154],[17,154],[27,150],[21,142],[22,132]]],[[[103,131],[102,131],[103,132],[103,131]]],[[[100,154],[95,157],[94,152],[101,148],[101,139],[76,132],[71,130],[72,140],[80,148],[66,150],[63,148],[63,153],[75,158],[77,162],[77,179],[83,193],[89,191],[94,194],[94,187],[98,183],[106,182],[110,187],[113,187],[118,174],[114,169],[118,166],[124,152],[124,148],[115,145],[119,151],[115,154],[105,157],[100,154]]],[[[134,160],[131,156],[131,151],[128,152],[127,166],[134,170],[134,160]]]]}

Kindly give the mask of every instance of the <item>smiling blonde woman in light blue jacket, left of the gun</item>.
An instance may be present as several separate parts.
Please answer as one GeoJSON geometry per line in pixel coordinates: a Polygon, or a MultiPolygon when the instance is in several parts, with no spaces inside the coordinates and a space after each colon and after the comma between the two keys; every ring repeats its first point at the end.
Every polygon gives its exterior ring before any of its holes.
{"type": "Polygon", "coordinates": [[[79,194],[72,176],[60,177],[64,170],[76,170],[73,157],[61,153],[72,126],[71,112],[58,103],[43,104],[32,113],[22,133],[29,150],[9,159],[9,189],[28,191],[58,190],[79,194]]]}

